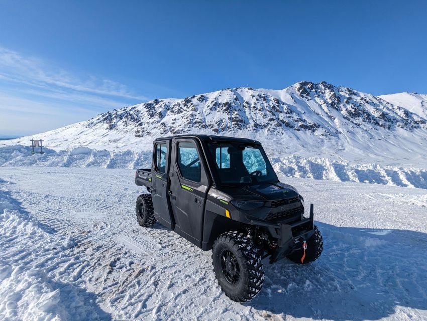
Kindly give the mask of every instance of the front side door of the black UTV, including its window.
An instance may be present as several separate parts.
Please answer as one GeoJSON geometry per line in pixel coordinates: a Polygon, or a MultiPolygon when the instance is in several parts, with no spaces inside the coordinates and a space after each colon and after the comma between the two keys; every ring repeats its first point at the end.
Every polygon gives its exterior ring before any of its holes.
{"type": "Polygon", "coordinates": [[[170,199],[175,231],[201,247],[203,211],[209,178],[196,139],[173,140],[170,199]]]}

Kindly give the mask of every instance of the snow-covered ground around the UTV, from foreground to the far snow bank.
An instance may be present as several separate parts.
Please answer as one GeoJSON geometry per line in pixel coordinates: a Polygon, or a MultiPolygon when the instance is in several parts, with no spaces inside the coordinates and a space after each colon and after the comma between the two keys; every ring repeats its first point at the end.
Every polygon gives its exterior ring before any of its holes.
{"type": "Polygon", "coordinates": [[[240,304],[210,251],[137,224],[133,171],[0,168],[0,319],[427,319],[424,189],[282,181],[314,203],[324,252],[266,262],[240,304]]]}

